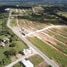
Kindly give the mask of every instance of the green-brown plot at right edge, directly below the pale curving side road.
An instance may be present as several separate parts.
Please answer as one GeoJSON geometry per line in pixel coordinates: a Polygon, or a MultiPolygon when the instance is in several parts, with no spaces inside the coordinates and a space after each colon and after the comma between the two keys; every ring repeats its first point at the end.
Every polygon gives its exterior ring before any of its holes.
{"type": "Polygon", "coordinates": [[[50,36],[58,39],[59,41],[67,44],[67,31],[65,31],[64,29],[49,29],[46,32],[47,34],[49,34],[50,36]]]}

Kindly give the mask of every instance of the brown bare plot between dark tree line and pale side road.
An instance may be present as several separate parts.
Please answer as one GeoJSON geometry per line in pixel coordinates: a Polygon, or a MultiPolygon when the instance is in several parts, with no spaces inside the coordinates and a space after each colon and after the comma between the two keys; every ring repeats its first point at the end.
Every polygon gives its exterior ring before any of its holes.
{"type": "Polygon", "coordinates": [[[48,26],[49,24],[45,24],[45,23],[40,23],[37,21],[30,21],[30,20],[25,20],[25,19],[19,19],[19,25],[23,28],[26,28],[30,31],[36,31],[36,30],[40,30],[42,28],[45,28],[46,26],[48,26]]]}

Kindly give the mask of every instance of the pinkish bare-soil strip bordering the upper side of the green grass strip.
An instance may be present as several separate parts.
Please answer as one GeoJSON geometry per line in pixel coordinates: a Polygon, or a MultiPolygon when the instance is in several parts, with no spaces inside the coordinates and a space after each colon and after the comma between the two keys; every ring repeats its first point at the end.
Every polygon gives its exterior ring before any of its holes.
{"type": "Polygon", "coordinates": [[[51,46],[54,46],[56,49],[58,49],[59,51],[63,52],[64,54],[67,54],[67,46],[65,43],[58,41],[57,39],[51,37],[51,36],[47,36],[45,33],[38,33],[38,35],[40,38],[42,38],[41,40],[43,40],[44,42],[49,43],[51,46]]]}

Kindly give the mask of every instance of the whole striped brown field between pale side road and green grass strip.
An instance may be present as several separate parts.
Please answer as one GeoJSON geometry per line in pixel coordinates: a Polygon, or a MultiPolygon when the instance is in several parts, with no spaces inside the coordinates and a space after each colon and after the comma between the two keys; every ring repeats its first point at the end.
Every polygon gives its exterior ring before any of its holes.
{"type": "Polygon", "coordinates": [[[63,54],[67,55],[67,28],[49,28],[41,32],[36,32],[34,36],[55,47],[63,54]]]}

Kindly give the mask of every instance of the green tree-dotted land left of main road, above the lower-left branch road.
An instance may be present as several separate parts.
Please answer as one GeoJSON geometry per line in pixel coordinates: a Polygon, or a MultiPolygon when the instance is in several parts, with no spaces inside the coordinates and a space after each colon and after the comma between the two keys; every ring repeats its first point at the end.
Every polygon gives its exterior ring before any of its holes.
{"type": "Polygon", "coordinates": [[[11,62],[10,57],[15,55],[27,45],[22,42],[10,29],[7,28],[8,13],[0,14],[0,67],[11,62]]]}

